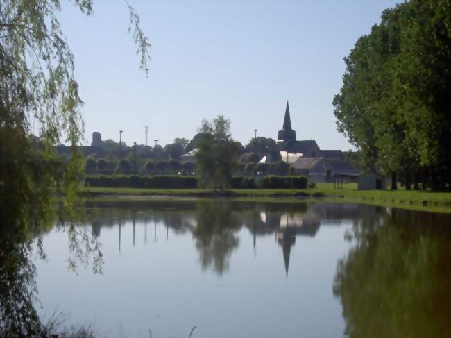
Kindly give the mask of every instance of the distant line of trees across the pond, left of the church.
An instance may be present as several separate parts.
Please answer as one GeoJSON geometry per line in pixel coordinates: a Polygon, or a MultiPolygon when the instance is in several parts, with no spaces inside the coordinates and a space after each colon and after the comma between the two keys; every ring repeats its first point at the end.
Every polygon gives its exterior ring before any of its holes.
{"type": "MultiPolygon", "coordinates": [[[[166,175],[197,174],[199,171],[210,175],[210,178],[204,176],[205,186],[211,187],[214,185],[213,181],[218,183],[222,176],[225,178],[223,187],[226,187],[233,175],[293,174],[289,172],[289,166],[282,161],[272,164],[259,163],[268,151],[275,150],[277,144],[271,138],[252,138],[245,145],[232,140],[230,121],[219,115],[213,121],[203,121],[192,140],[176,138],[165,146],[128,146],[125,142],[119,144],[114,140],[105,140],[99,152],[87,155],[85,169],[88,174],[166,175]],[[201,150],[196,155],[197,164],[182,158],[183,154],[193,149],[201,150]],[[207,167],[211,169],[209,174],[207,167]]],[[[221,184],[218,185],[220,186],[221,184]]]]}

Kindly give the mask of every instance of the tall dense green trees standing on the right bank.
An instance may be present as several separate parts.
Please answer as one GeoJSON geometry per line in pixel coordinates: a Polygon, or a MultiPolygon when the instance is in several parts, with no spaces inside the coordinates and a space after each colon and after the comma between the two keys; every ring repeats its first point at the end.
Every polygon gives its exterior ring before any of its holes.
{"type": "Polygon", "coordinates": [[[345,62],[334,114],[359,164],[391,174],[392,189],[450,189],[451,1],[384,10],[345,62]]]}

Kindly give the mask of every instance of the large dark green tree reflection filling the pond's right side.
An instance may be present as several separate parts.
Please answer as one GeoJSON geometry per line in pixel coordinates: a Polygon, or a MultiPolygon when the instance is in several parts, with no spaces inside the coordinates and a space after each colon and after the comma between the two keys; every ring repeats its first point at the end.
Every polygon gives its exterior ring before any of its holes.
{"type": "Polygon", "coordinates": [[[334,294],[350,337],[450,337],[451,217],[393,209],[357,221],[334,294]]]}

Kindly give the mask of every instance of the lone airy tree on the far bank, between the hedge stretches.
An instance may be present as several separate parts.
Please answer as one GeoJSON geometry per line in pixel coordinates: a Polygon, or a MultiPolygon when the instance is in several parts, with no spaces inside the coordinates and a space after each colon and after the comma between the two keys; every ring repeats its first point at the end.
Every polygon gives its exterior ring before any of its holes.
{"type": "Polygon", "coordinates": [[[218,115],[212,121],[204,119],[198,133],[201,136],[196,159],[201,186],[221,190],[229,187],[237,163],[230,120],[223,115],[218,115]]]}

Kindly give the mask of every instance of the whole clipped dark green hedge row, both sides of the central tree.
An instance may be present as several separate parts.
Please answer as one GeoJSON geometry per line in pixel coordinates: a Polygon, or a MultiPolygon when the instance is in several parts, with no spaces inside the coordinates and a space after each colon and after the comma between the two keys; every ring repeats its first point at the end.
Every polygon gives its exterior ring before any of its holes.
{"type": "MultiPolygon", "coordinates": [[[[197,178],[194,176],[86,176],[87,187],[128,187],[147,189],[194,189],[197,178]]],[[[233,189],[305,189],[305,176],[264,176],[254,180],[252,177],[235,176],[231,182],[233,189]]]]}

